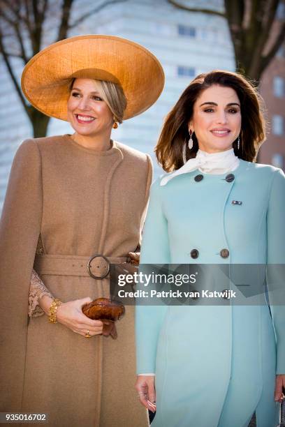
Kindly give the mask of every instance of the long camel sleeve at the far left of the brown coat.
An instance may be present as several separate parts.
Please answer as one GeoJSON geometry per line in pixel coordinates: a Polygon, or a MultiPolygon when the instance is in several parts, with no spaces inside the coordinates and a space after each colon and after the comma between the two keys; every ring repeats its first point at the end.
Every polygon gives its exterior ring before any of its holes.
{"type": "Polygon", "coordinates": [[[36,143],[27,140],[13,160],[0,225],[0,372],[4,373],[0,383],[6,390],[1,407],[9,407],[10,411],[19,410],[22,404],[29,301],[29,287],[24,284],[31,279],[42,206],[41,155],[36,143]],[[15,262],[11,264],[11,260],[15,262]],[[13,364],[6,364],[9,358],[13,364]]]}

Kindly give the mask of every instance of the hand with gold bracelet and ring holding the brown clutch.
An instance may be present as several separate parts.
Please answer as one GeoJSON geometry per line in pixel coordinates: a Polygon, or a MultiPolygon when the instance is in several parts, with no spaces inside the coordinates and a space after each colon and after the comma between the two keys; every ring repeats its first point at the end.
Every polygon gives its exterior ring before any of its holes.
{"type": "MultiPolygon", "coordinates": [[[[92,299],[87,297],[61,303],[61,305],[57,308],[57,322],[63,324],[68,329],[71,329],[71,331],[82,336],[85,336],[87,331],[89,331],[90,336],[102,334],[103,322],[101,322],[101,320],[89,319],[89,317],[82,313],[82,306],[84,306],[84,304],[88,304],[91,301],[92,299]]],[[[48,315],[48,310],[50,308],[50,304],[52,304],[52,299],[45,295],[39,300],[39,304],[48,315]]]]}

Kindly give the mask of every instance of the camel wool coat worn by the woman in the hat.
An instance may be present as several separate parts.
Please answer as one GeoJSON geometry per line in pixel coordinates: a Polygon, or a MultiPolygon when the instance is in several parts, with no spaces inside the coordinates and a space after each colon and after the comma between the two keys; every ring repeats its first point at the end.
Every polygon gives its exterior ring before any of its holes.
{"type": "MultiPolygon", "coordinates": [[[[29,320],[28,298],[39,237],[49,255],[136,250],[151,181],[149,156],[119,142],[94,151],[63,135],[17,150],[0,227],[1,411],[47,412],[52,427],[148,425],[134,389],[133,307],[117,322],[117,340],[87,339],[46,315],[29,320]]],[[[108,278],[41,279],[63,302],[108,297],[108,278]]]]}

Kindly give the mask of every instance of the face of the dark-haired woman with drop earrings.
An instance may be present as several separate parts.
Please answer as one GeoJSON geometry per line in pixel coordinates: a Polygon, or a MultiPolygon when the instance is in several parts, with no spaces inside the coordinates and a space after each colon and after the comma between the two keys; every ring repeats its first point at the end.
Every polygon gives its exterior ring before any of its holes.
{"type": "Polygon", "coordinates": [[[237,93],[231,87],[215,84],[200,93],[194,103],[189,131],[195,132],[200,150],[216,153],[233,147],[241,123],[237,93]]]}

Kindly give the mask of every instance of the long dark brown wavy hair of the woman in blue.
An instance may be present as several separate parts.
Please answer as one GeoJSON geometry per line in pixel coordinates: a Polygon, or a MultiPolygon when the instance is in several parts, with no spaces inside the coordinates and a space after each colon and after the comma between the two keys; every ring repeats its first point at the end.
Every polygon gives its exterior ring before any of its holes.
{"type": "Polygon", "coordinates": [[[196,157],[198,140],[193,133],[193,148],[188,147],[188,123],[193,115],[193,105],[200,93],[219,84],[235,90],[240,100],[242,126],[240,130],[240,149],[238,140],[233,142],[235,156],[252,162],[256,159],[259,147],[265,140],[265,119],[263,117],[263,99],[256,87],[241,74],[224,70],[213,70],[198,75],[184,90],[166,120],[155,148],[156,158],[166,172],[172,172],[183,165],[183,150],[186,146],[186,158],[196,157]]]}

